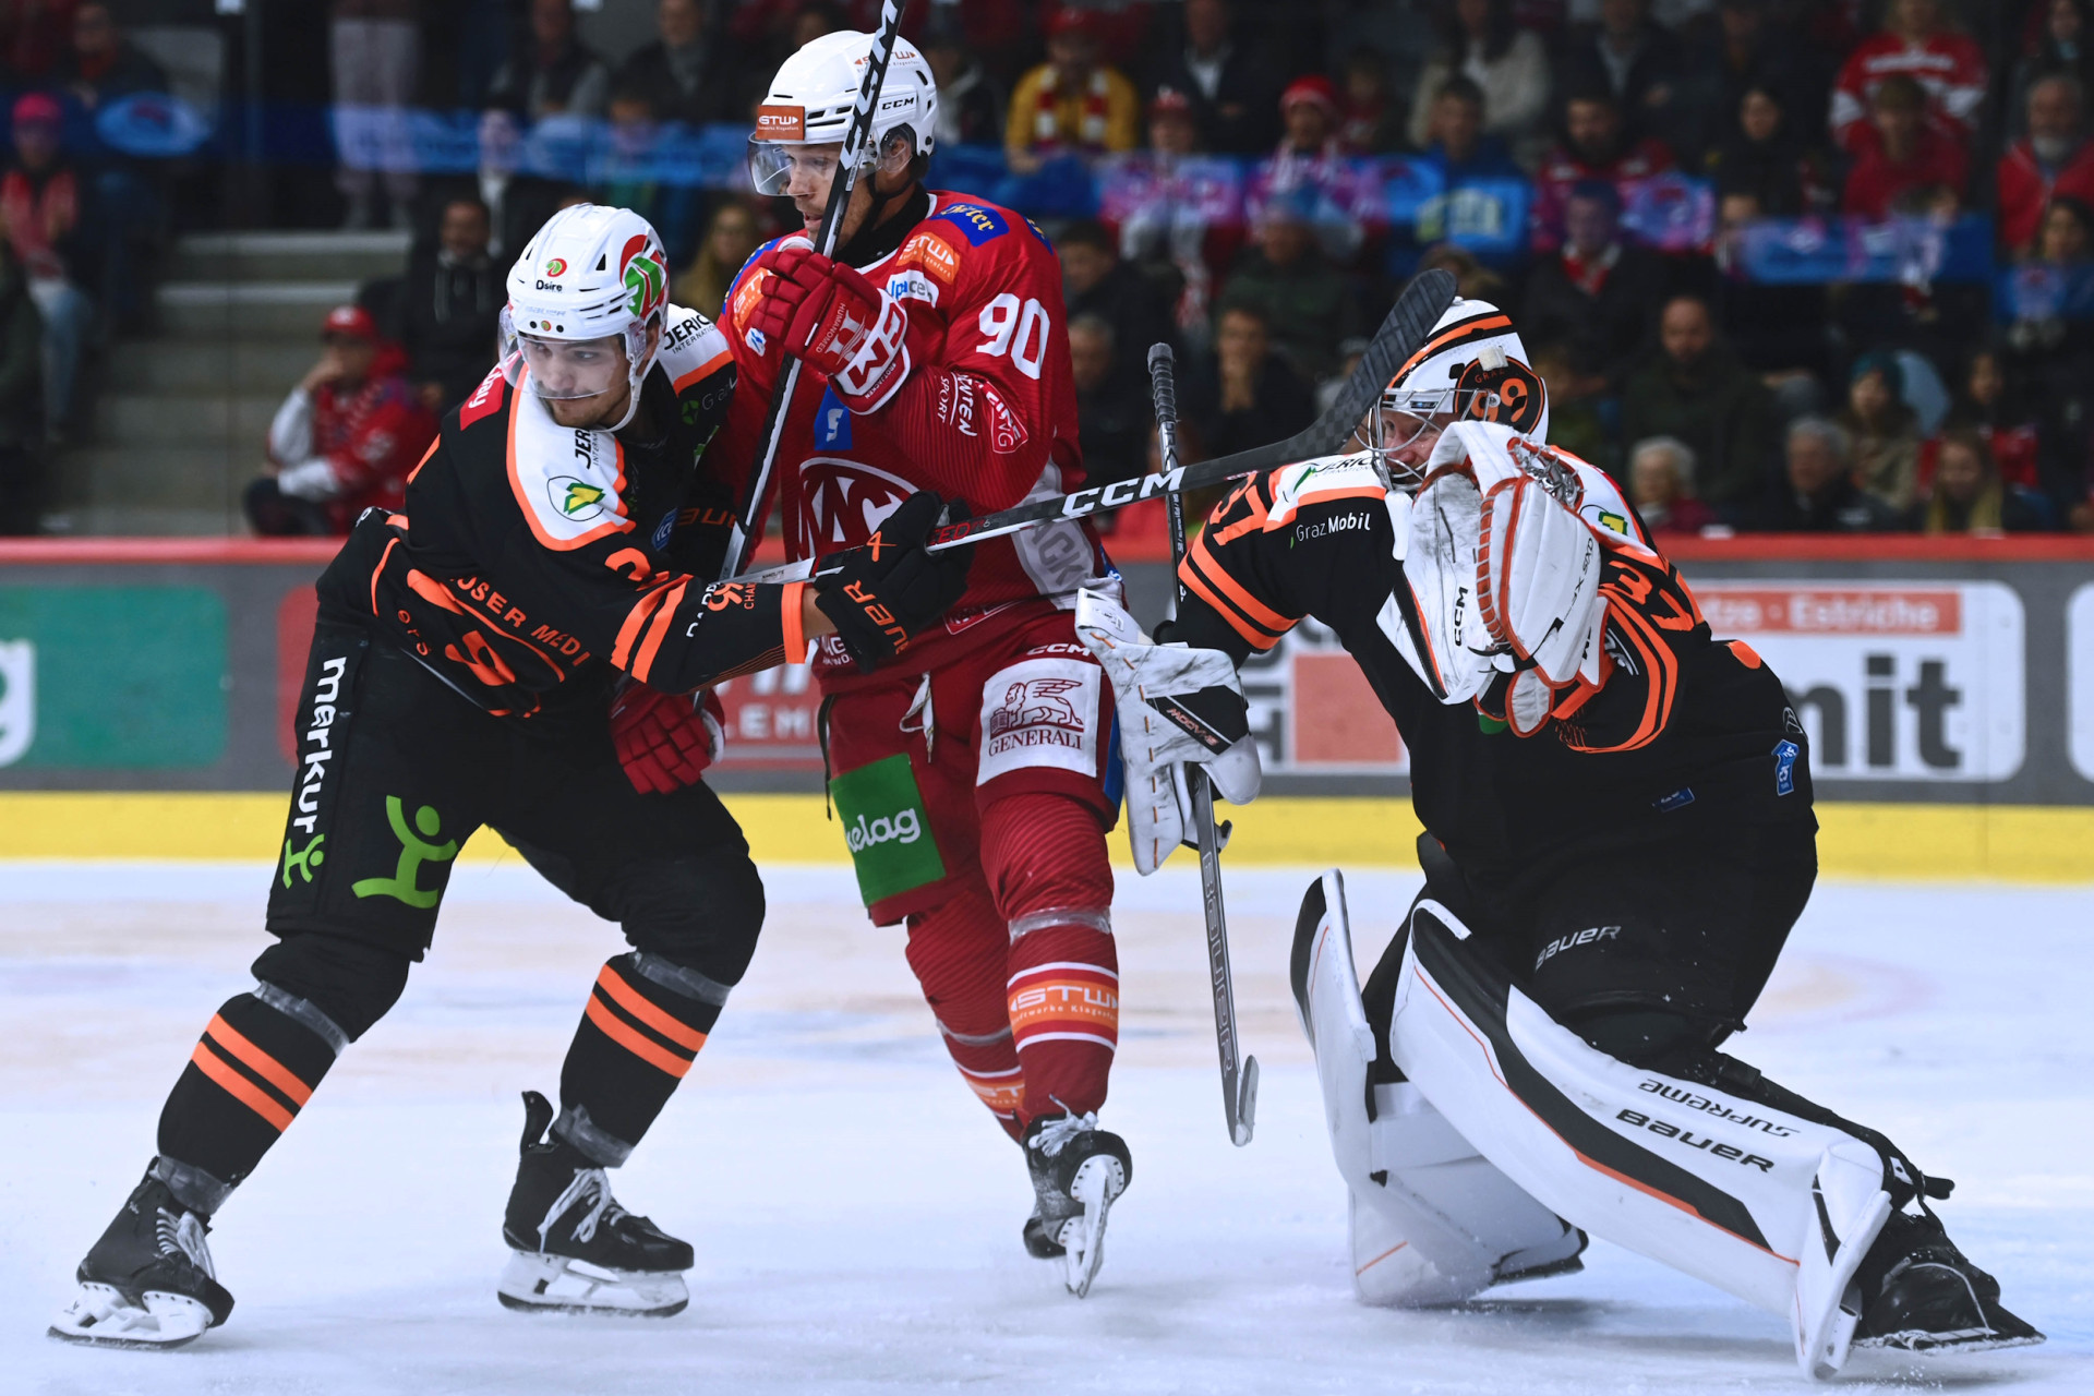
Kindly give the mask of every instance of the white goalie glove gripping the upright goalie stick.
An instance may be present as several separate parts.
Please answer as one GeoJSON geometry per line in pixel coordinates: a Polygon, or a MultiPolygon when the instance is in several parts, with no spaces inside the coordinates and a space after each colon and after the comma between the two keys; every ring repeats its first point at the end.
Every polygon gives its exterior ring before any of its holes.
{"type": "Polygon", "coordinates": [[[1148,877],[1179,843],[1196,848],[1185,762],[1206,766],[1229,804],[1258,797],[1244,686],[1229,655],[1150,640],[1106,592],[1076,592],[1076,638],[1104,666],[1118,703],[1127,835],[1135,871],[1148,877]]]}

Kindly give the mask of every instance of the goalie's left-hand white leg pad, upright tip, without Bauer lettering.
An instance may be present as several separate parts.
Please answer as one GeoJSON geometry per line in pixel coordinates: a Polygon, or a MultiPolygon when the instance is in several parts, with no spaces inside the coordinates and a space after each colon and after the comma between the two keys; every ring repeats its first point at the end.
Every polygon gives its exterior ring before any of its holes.
{"type": "Polygon", "coordinates": [[[1453,1304],[1489,1285],[1568,1268],[1585,1237],[1476,1153],[1409,1082],[1376,1084],[1344,879],[1302,902],[1296,1007],[1315,1046],[1338,1174],[1351,1193],[1353,1285],[1363,1304],[1453,1304]]]}

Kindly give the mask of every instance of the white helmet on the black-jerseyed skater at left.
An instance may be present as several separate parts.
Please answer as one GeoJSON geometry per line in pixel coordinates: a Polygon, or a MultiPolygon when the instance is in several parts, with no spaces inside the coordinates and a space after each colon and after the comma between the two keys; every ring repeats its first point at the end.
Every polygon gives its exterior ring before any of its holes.
{"type": "Polygon", "coordinates": [[[580,203],[547,220],[509,268],[503,306],[503,377],[530,379],[540,398],[595,398],[624,370],[626,414],[641,402],[641,379],[653,366],[660,339],[647,329],[668,314],[668,253],[653,224],[632,209],[580,203]],[[597,341],[620,337],[624,354],[597,341]]]}

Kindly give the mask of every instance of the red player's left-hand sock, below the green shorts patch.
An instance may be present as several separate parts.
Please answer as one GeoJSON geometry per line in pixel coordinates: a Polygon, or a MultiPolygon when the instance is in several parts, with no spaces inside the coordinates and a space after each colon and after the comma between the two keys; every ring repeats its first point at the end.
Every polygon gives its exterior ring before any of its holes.
{"type": "Polygon", "coordinates": [[[938,1017],[944,1051],[997,1124],[1018,1139],[1026,1080],[1003,1007],[1007,946],[1003,917],[978,881],[961,883],[940,906],[909,917],[909,967],[938,1017]]]}

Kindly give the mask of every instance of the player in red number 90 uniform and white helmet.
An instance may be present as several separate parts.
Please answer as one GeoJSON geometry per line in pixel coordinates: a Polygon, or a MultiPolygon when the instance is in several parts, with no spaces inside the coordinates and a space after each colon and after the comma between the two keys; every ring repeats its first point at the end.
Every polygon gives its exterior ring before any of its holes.
{"type": "MultiPolygon", "coordinates": [[[[775,463],[794,559],[856,544],[913,490],[976,511],[1083,483],[1062,272],[995,203],[928,190],[938,94],[898,42],[838,255],[812,249],[873,36],[829,33],[779,69],[750,174],[808,237],[762,247],[727,295],[741,368],[729,460],[802,362],[775,463]]],[[[967,1086],[1026,1149],[1026,1247],[1083,1293],[1127,1145],[1097,1128],[1118,1038],[1112,693],[1076,640],[1074,592],[1110,584],[1062,523],[982,544],[961,603],[879,674],[823,643],[829,791],[875,923],[909,965],[967,1086]]]]}

